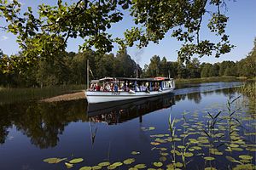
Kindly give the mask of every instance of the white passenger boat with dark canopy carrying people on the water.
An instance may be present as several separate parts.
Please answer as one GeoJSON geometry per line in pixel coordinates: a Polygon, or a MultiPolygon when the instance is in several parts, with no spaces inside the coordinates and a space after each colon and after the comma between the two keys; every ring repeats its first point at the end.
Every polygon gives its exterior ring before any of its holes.
{"type": "Polygon", "coordinates": [[[90,88],[85,91],[89,104],[143,99],[171,93],[175,88],[172,78],[125,78],[105,77],[92,80],[90,88]],[[99,88],[98,84],[102,84],[99,88]]]}

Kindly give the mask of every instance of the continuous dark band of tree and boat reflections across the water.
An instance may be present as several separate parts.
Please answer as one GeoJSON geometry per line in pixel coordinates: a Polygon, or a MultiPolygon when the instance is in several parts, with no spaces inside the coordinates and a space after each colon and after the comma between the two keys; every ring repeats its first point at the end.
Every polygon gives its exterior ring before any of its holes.
{"type": "Polygon", "coordinates": [[[0,105],[0,144],[9,137],[9,130],[16,128],[37,147],[44,149],[55,147],[70,122],[106,122],[114,125],[139,117],[162,108],[168,108],[180,100],[189,99],[200,103],[202,95],[236,93],[235,88],[212,92],[183,95],[165,95],[158,98],[137,100],[115,105],[89,105],[86,100],[58,103],[20,103],[0,105]]]}

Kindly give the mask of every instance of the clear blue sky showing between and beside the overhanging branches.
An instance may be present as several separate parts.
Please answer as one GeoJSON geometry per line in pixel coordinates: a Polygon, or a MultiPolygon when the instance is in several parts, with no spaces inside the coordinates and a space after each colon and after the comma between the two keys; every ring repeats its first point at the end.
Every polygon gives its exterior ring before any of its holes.
{"type": "MultiPolygon", "coordinates": [[[[37,8],[39,3],[56,4],[57,0],[46,0],[46,1],[34,1],[34,0],[21,0],[23,3],[22,8],[32,6],[33,9],[37,8]]],[[[71,2],[75,2],[74,0],[71,2]]],[[[226,1],[228,4],[227,11],[225,14],[230,17],[226,32],[230,35],[230,42],[236,45],[230,54],[224,54],[220,58],[216,59],[213,56],[205,56],[200,59],[201,62],[215,63],[223,60],[237,61],[245,58],[247,54],[253,48],[253,40],[256,37],[256,0],[233,0],[226,1]]],[[[204,23],[207,21],[205,17],[204,23]]],[[[0,20],[0,25],[3,26],[5,23],[0,20]],[[3,23],[3,24],[2,24],[3,23]]],[[[125,13],[124,20],[120,23],[113,25],[109,30],[113,34],[113,37],[123,37],[123,32],[126,29],[131,28],[132,18],[125,13]]],[[[216,37],[210,34],[205,29],[201,31],[201,37],[209,38],[215,41],[216,37]]],[[[70,39],[67,44],[67,51],[78,52],[79,45],[83,44],[81,38],[70,39]]],[[[177,60],[177,50],[181,47],[181,42],[177,42],[176,39],[170,37],[170,33],[166,34],[166,38],[160,41],[159,44],[149,43],[147,48],[137,49],[128,48],[128,54],[131,55],[132,59],[135,59],[137,63],[143,67],[145,64],[149,64],[150,58],[155,54],[161,58],[166,57],[167,60],[177,60]]],[[[0,48],[3,49],[4,54],[17,54],[20,50],[18,44],[15,42],[15,36],[11,33],[0,31],[0,48]]],[[[117,47],[113,49],[113,54],[116,53],[117,47]]]]}

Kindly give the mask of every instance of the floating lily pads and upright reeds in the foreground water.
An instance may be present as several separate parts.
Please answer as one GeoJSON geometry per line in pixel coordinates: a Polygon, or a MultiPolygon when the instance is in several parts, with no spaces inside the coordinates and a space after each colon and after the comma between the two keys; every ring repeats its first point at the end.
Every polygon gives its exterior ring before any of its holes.
{"type": "Polygon", "coordinates": [[[140,132],[148,136],[149,151],[155,156],[148,164],[140,162],[143,150],[128,150],[131,155],[123,160],[108,160],[97,165],[89,165],[85,158],[68,161],[53,157],[44,161],[65,162],[67,168],[80,166],[80,170],[193,169],[197,165],[199,169],[255,169],[256,122],[246,109],[236,105],[239,99],[229,97],[225,105],[183,111],[180,117],[171,113],[169,133],[157,133],[158,127],[140,127],[140,132]]]}

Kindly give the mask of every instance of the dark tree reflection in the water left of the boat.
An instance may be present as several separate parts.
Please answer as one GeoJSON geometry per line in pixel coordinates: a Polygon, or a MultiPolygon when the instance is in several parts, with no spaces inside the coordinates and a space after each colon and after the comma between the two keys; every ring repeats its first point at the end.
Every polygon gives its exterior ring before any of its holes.
{"type": "Polygon", "coordinates": [[[54,147],[59,141],[58,135],[63,133],[68,123],[88,121],[84,114],[86,110],[84,99],[50,104],[0,105],[0,143],[6,141],[9,128],[16,127],[39,148],[54,147]]]}

